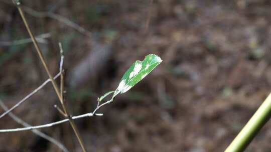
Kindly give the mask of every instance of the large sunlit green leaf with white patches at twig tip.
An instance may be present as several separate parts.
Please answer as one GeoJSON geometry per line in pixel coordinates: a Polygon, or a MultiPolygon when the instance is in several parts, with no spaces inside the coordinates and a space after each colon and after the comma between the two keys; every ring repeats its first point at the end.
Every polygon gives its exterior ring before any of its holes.
{"type": "Polygon", "coordinates": [[[155,54],[147,55],[143,61],[135,61],[120,79],[120,83],[114,91],[112,98],[114,98],[118,93],[125,93],[128,91],[131,87],[147,76],[161,62],[162,59],[155,54]]]}

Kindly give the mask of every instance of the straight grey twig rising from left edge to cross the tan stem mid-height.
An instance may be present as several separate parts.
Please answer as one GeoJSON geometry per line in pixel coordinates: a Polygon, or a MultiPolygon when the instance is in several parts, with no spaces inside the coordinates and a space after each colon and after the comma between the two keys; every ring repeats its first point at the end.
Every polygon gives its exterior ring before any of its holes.
{"type": "MultiPolygon", "coordinates": [[[[56,79],[61,73],[59,72],[58,74],[55,75],[54,79],[56,79]]],[[[0,118],[3,116],[7,115],[9,112],[17,108],[19,105],[21,105],[23,102],[25,102],[27,99],[29,99],[31,96],[33,96],[35,93],[37,93],[40,89],[42,89],[48,82],[50,82],[51,79],[48,78],[46,81],[44,81],[39,87],[37,87],[34,91],[29,93],[27,96],[25,96],[22,100],[20,100],[17,104],[15,104],[12,108],[4,112],[3,114],[0,115],[0,118]]]]}

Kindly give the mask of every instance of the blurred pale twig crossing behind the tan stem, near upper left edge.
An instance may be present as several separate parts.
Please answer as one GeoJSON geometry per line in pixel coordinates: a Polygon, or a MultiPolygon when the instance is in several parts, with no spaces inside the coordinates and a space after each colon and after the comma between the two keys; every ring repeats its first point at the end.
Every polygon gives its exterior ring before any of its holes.
{"type": "MultiPolygon", "coordinates": [[[[50,33],[44,33],[36,36],[36,39],[39,43],[47,43],[47,40],[45,38],[48,38],[50,36],[50,33]]],[[[31,38],[19,39],[14,41],[0,41],[0,46],[20,45],[30,42],[32,42],[31,38]]]]}

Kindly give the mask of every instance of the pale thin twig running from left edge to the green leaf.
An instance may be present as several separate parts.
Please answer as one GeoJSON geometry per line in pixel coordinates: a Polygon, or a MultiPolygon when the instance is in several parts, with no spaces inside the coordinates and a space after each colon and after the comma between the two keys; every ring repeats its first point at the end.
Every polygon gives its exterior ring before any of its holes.
{"type": "MultiPolygon", "coordinates": [[[[83,118],[83,117],[91,117],[91,116],[94,116],[94,115],[101,116],[103,114],[102,113],[96,113],[96,111],[98,109],[100,109],[102,106],[111,103],[112,101],[113,101],[113,99],[108,100],[108,101],[98,105],[92,112],[77,115],[77,116],[72,116],[71,119],[74,120],[74,119],[83,118]]],[[[15,128],[15,129],[0,129],[0,132],[25,131],[25,130],[44,128],[44,127],[51,127],[51,126],[54,126],[54,125],[57,125],[57,124],[67,122],[67,121],[69,121],[69,118],[66,118],[66,119],[63,119],[63,120],[60,120],[60,121],[56,121],[56,122],[52,122],[52,123],[43,124],[43,125],[36,125],[36,126],[29,126],[29,127],[23,127],[23,128],[15,128]]]]}

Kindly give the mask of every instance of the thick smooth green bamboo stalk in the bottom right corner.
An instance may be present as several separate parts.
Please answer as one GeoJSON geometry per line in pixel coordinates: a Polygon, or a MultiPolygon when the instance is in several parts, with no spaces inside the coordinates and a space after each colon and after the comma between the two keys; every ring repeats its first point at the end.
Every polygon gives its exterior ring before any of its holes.
{"type": "Polygon", "coordinates": [[[251,140],[269,120],[271,116],[271,93],[263,101],[257,111],[245,124],[242,130],[226,148],[225,152],[240,152],[244,151],[251,140]]]}

